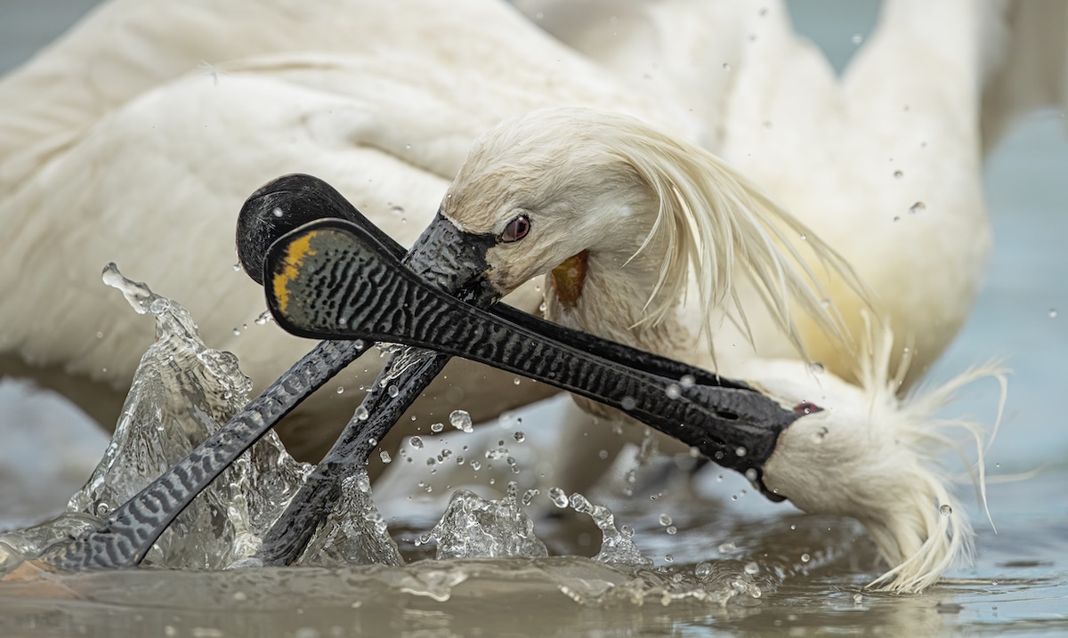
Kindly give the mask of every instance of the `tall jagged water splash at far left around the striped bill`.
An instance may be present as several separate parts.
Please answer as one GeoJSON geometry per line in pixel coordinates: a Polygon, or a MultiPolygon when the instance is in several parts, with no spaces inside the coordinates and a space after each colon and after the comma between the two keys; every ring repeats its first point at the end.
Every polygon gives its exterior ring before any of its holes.
{"type": "MultiPolygon", "coordinates": [[[[178,303],[127,280],[114,264],[105,268],[104,282],[136,312],[155,317],[156,341],[141,357],[104,458],[67,506],[101,519],[226,422],[252,387],[237,357],[205,346],[178,303]]],[[[309,472],[268,432],[175,520],[145,562],[221,569],[250,556],[309,472]]],[[[75,520],[20,533],[45,538],[75,520]]]]}

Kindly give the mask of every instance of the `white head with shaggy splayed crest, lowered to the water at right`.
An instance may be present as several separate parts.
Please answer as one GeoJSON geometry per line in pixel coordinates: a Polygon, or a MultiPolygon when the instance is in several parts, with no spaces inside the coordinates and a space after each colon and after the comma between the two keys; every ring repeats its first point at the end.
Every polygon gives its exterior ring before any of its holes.
{"type": "Polygon", "coordinates": [[[937,412],[956,389],[981,377],[1002,384],[987,366],[900,398],[904,367],[891,377],[893,336],[869,332],[858,370],[860,385],[798,361],[751,360],[732,373],[784,405],[807,414],[779,436],[764,465],[766,490],[811,513],[857,519],[892,570],[871,586],[920,591],[972,553],[973,531],[942,462],[963,458],[961,438],[976,446],[974,476],[983,493],[983,428],[937,412]],[[967,438],[965,438],[967,440],[967,438]]]}

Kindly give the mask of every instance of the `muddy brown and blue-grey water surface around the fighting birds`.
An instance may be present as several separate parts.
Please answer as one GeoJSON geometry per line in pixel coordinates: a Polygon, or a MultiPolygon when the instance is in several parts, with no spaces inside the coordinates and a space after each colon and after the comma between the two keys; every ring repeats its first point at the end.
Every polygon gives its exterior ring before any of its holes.
{"type": "MultiPolygon", "coordinates": [[[[5,1],[0,66],[23,60],[91,4],[5,1]]],[[[800,28],[839,58],[870,19],[846,15],[832,2],[796,9],[800,28]]],[[[603,497],[617,521],[634,529],[635,543],[655,561],[651,569],[581,558],[596,554],[596,529],[572,517],[544,516],[535,530],[555,558],[429,561],[430,549],[417,541],[435,523],[425,512],[440,514],[440,504],[421,509],[402,501],[382,509],[413,561],[404,568],[30,574],[0,584],[0,635],[1068,634],[1065,175],[1068,143],[1058,114],[1022,125],[990,161],[996,248],[988,282],[931,377],[945,379],[991,355],[1009,357],[1015,374],[1007,418],[988,456],[998,532],[972,507],[975,565],[951,572],[949,580],[924,594],[863,591],[881,570],[855,524],[773,506],[743,493],[743,481],[720,480],[711,470],[692,487],[655,484],[631,499],[603,497]],[[675,533],[661,525],[664,513],[675,533]],[[565,554],[577,557],[560,557],[565,554]],[[714,565],[711,572],[705,561],[714,565]],[[745,569],[750,563],[757,567],[754,574],[745,569]],[[723,595],[742,574],[759,597],[752,590],[723,595]],[[701,578],[714,587],[691,587],[701,578]],[[718,595],[675,595],[698,590],[718,595]]],[[[952,410],[989,415],[987,394],[977,389],[952,410]]],[[[0,527],[58,511],[99,458],[98,434],[64,410],[25,387],[0,386],[0,527]],[[62,462],[41,474],[45,458],[62,462]]],[[[552,411],[545,408],[527,421],[551,419],[552,411]]]]}

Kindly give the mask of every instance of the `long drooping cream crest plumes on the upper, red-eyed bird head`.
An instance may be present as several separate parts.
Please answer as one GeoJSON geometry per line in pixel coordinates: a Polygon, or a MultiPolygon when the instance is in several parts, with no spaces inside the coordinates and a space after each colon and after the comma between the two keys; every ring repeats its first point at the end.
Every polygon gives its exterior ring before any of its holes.
{"type": "Polygon", "coordinates": [[[613,124],[628,133],[614,140],[613,150],[633,166],[659,202],[653,229],[639,249],[654,239],[666,246],[646,322],[659,323],[673,312],[686,297],[692,271],[700,275],[695,278],[706,333],[710,333],[714,308],[727,299],[736,302],[737,319],[748,325],[733,287],[732,271],[738,265],[802,354],[804,345],[791,317],[791,302],[829,335],[848,344],[841,317],[826,301],[828,292],[786,233],[805,236],[818,261],[867,299],[863,284],[834,250],[724,160],[637,119],[602,115],[618,119],[613,124]]]}

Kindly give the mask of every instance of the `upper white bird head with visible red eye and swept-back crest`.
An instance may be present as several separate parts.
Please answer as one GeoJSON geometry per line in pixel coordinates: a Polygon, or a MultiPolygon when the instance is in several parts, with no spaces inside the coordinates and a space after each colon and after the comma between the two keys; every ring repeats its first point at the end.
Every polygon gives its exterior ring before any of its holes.
{"type": "Polygon", "coordinates": [[[633,117],[591,109],[533,111],[487,131],[442,200],[441,219],[494,238],[486,277],[502,294],[551,272],[555,297],[574,306],[587,276],[609,285],[617,275],[612,297],[634,308],[621,313],[628,328],[670,318],[694,283],[707,330],[741,272],[802,349],[791,312],[844,337],[807,264],[861,288],[833,250],[721,159],[633,117]],[[812,237],[816,258],[802,258],[786,233],[812,237]]]}

